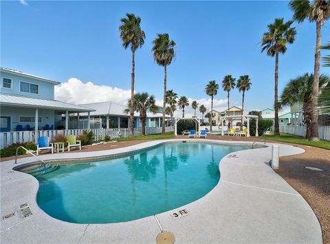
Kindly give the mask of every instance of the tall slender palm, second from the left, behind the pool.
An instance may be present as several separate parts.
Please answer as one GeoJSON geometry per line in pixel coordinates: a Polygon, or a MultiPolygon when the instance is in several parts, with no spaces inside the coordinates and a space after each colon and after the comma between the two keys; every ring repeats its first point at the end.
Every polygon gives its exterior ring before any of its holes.
{"type": "Polygon", "coordinates": [[[164,96],[163,96],[163,123],[162,134],[165,134],[165,108],[166,108],[166,67],[175,57],[175,42],[169,39],[168,34],[157,34],[157,38],[153,40],[153,58],[160,66],[164,66],[164,96]]]}

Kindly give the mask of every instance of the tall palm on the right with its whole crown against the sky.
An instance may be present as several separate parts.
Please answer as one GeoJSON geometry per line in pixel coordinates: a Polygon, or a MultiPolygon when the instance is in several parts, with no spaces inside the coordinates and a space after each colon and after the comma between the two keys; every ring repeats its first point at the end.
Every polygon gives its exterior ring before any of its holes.
{"type": "Polygon", "coordinates": [[[274,94],[274,136],[280,135],[280,127],[278,125],[278,53],[287,51],[287,44],[292,44],[296,36],[296,29],[291,27],[293,21],[284,23],[282,19],[275,19],[274,23],[267,25],[268,32],[263,34],[261,40],[261,52],[267,50],[268,56],[275,56],[275,94],[274,94]]]}

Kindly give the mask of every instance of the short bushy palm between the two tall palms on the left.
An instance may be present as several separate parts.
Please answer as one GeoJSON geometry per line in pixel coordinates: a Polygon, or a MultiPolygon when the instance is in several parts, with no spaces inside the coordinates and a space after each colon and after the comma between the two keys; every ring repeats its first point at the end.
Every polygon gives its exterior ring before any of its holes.
{"type": "MultiPolygon", "coordinates": [[[[136,93],[134,95],[133,110],[140,112],[142,136],[146,135],[146,111],[149,110],[153,112],[153,114],[158,112],[158,107],[156,106],[155,102],[155,97],[153,97],[153,95],[149,97],[148,93],[136,93]]],[[[131,99],[128,100],[127,107],[128,109],[124,111],[126,113],[131,111],[131,99]]]]}

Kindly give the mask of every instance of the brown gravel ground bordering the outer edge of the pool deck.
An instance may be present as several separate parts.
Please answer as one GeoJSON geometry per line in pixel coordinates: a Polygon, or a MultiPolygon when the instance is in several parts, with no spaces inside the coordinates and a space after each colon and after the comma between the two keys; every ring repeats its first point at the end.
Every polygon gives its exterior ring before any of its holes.
{"type": "MultiPolygon", "coordinates": [[[[177,138],[187,138],[187,136],[177,136],[177,138]]],[[[256,140],[256,138],[253,137],[237,138],[234,136],[217,135],[208,135],[208,138],[228,141],[263,141],[261,139],[256,140]]],[[[146,141],[123,141],[84,146],[82,151],[115,149],[144,142],[146,141]]],[[[280,169],[278,169],[277,173],[306,199],[320,221],[324,243],[330,243],[330,150],[305,145],[297,146],[305,149],[305,153],[281,157],[280,169]],[[322,169],[322,171],[315,171],[307,169],[306,167],[315,167],[322,169]]],[[[76,150],[72,150],[71,152],[75,151],[76,150]]],[[[47,153],[49,153],[47,150],[43,152],[43,154],[47,153]]],[[[68,152],[65,152],[65,154],[68,154],[68,152]]],[[[19,158],[27,156],[29,155],[19,156],[19,158]]],[[[14,159],[14,156],[1,158],[1,161],[12,159],[14,159]]]]}

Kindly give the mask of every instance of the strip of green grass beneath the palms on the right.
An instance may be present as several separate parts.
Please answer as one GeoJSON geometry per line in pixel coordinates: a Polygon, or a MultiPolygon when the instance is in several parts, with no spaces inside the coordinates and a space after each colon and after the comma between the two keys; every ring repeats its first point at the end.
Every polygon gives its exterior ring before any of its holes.
{"type": "Polygon", "coordinates": [[[308,141],[306,138],[301,136],[295,136],[292,134],[281,133],[281,136],[266,135],[268,140],[279,141],[282,143],[295,143],[300,145],[307,145],[312,147],[320,147],[330,150],[330,141],[308,141]]]}

